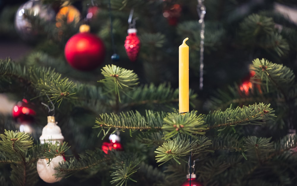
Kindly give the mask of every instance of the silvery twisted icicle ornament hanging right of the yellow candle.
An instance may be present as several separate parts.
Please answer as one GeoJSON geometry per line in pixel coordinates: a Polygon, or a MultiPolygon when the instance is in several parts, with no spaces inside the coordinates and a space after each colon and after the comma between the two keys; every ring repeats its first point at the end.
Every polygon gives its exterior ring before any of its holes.
{"type": "Polygon", "coordinates": [[[203,89],[203,67],[204,67],[204,32],[205,32],[205,23],[204,17],[206,14],[206,7],[203,4],[204,0],[198,0],[197,5],[197,13],[199,15],[199,23],[201,24],[201,31],[200,31],[200,80],[199,80],[199,89],[203,89]]]}

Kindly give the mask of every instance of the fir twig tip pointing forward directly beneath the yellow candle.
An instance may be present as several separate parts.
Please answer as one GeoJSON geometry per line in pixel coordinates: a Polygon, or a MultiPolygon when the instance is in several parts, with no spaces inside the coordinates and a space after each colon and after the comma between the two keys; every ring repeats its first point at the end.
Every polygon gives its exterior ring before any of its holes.
{"type": "Polygon", "coordinates": [[[162,130],[164,131],[164,138],[169,139],[178,133],[187,134],[194,137],[196,134],[204,135],[207,130],[207,125],[203,120],[203,115],[197,116],[197,111],[191,111],[185,115],[181,115],[177,112],[168,113],[164,118],[164,125],[162,130]]]}

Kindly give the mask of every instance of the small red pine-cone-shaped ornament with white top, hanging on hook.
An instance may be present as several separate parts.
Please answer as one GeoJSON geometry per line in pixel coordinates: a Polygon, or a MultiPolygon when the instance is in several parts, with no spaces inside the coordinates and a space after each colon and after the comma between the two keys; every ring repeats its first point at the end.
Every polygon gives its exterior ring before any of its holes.
{"type": "Polygon", "coordinates": [[[136,35],[137,29],[136,28],[129,28],[128,29],[128,36],[125,40],[125,49],[130,61],[134,62],[137,59],[139,50],[140,50],[140,40],[136,35]]]}

